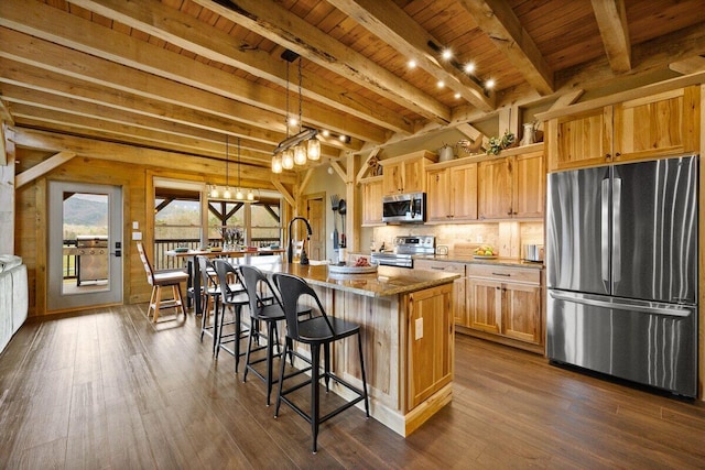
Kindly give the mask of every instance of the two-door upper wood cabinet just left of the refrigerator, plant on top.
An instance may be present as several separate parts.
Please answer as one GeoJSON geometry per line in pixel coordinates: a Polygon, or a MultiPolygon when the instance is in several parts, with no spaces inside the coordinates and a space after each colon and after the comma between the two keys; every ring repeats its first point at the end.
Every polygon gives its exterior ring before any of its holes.
{"type": "Polygon", "coordinates": [[[479,163],[479,220],[543,217],[543,144],[506,151],[510,152],[513,154],[479,163]]]}

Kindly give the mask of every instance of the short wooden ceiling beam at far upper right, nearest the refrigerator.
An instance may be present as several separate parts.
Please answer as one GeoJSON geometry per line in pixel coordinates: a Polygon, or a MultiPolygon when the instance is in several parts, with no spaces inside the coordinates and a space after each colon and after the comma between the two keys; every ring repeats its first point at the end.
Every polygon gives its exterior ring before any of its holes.
{"type": "Polygon", "coordinates": [[[623,0],[592,0],[609,66],[616,74],[631,69],[631,42],[623,0]]]}

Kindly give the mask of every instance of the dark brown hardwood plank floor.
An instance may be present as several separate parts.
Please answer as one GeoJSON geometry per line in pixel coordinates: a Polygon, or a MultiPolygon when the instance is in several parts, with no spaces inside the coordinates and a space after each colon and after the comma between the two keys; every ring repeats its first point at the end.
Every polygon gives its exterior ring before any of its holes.
{"type": "Polygon", "coordinates": [[[419,430],[403,439],[352,409],[312,455],[306,423],[285,407],[274,419],[264,384],[213,360],[193,315],[156,330],[143,307],[21,328],[0,357],[0,467],[705,467],[703,402],[465,336],[453,403],[419,430]]]}

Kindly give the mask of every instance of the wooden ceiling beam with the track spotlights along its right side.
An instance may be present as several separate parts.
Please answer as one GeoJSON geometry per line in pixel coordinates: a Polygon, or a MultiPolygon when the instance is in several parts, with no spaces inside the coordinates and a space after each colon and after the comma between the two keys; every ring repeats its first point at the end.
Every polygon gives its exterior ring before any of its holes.
{"type": "Polygon", "coordinates": [[[438,61],[438,51],[430,46],[441,41],[393,2],[378,0],[328,0],[328,3],[355,19],[372,34],[384,40],[401,55],[416,59],[419,66],[482,111],[495,108],[482,86],[458,70],[451,61],[438,61]]]}

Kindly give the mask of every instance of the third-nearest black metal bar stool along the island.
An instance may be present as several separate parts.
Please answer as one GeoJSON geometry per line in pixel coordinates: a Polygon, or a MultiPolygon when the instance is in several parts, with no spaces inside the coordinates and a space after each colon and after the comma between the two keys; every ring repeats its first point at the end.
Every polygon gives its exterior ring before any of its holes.
{"type": "Polygon", "coordinates": [[[246,335],[253,327],[249,325],[248,328],[242,328],[242,307],[249,304],[249,298],[243,289],[234,291],[229,283],[228,276],[234,276],[238,282],[236,285],[241,285],[239,282],[240,275],[237,270],[226,260],[215,260],[213,262],[218,275],[218,282],[220,283],[220,314],[216,313],[214,318],[215,326],[214,331],[216,334],[216,359],[220,349],[229,352],[235,357],[235,373],[238,372],[240,363],[240,357],[245,356],[245,352],[240,352],[240,340],[246,338],[246,335]],[[226,307],[232,307],[235,310],[235,318],[230,323],[225,323],[225,309],[226,307]],[[232,334],[225,335],[223,329],[227,325],[235,325],[235,331],[232,334]],[[228,345],[232,342],[232,349],[228,345]]]}

